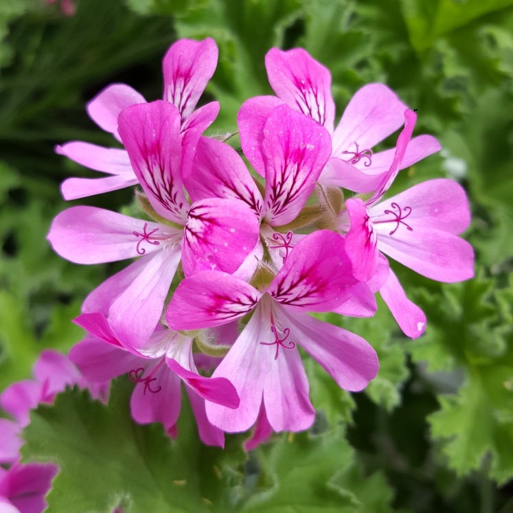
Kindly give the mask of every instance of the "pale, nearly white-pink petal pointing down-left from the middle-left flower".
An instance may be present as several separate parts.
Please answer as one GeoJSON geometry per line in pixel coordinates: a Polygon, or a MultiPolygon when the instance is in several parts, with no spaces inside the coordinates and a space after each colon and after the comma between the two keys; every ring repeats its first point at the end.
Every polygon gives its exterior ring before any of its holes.
{"type": "Polygon", "coordinates": [[[157,253],[111,305],[111,327],[130,346],[144,345],[157,327],[180,253],[179,247],[157,253]]]}

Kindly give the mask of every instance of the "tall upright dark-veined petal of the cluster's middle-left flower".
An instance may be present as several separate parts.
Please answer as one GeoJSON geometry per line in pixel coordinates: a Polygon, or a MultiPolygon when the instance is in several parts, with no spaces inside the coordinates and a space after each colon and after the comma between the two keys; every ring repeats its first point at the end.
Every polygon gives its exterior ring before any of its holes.
{"type": "Polygon", "coordinates": [[[185,224],[180,113],[168,102],[133,105],[119,114],[119,135],[155,211],[185,224]]]}

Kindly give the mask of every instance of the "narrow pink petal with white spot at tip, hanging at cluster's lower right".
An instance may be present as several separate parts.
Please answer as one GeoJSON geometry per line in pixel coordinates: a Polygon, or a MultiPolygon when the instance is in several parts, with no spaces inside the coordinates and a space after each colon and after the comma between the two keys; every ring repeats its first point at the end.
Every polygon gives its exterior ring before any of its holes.
{"type": "Polygon", "coordinates": [[[388,280],[380,288],[379,293],[407,337],[417,339],[424,333],[426,329],[424,312],[406,297],[399,280],[391,269],[388,280]]]}

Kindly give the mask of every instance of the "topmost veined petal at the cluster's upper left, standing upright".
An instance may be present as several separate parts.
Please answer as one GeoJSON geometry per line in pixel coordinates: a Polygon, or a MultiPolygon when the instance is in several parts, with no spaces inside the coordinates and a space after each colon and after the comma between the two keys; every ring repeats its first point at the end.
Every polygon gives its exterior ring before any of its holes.
{"type": "Polygon", "coordinates": [[[214,75],[218,53],[212,38],[179,39],[168,49],[162,62],[164,100],[176,105],[182,121],[192,114],[214,75]]]}

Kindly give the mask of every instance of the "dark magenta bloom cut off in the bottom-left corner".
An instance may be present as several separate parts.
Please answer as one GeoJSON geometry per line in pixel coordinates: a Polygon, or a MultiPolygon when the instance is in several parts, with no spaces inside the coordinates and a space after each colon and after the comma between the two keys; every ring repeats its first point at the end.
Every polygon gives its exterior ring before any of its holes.
{"type": "Polygon", "coordinates": [[[45,495],[52,488],[58,466],[15,463],[9,470],[0,467],[0,512],[43,513],[45,495]]]}

